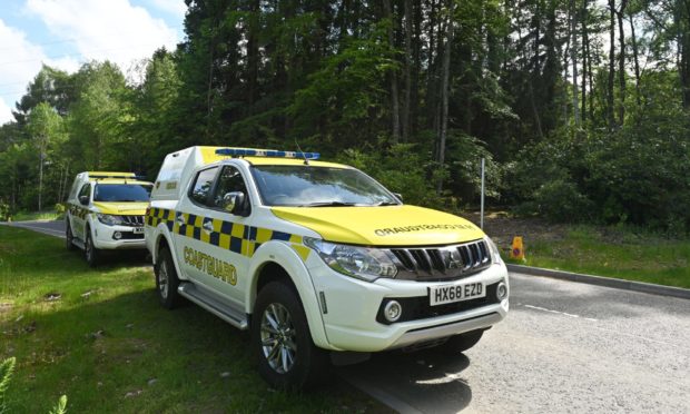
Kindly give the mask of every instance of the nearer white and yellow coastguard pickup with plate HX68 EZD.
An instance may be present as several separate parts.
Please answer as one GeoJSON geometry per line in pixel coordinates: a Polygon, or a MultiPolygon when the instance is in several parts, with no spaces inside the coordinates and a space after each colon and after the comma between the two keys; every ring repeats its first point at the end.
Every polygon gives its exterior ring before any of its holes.
{"type": "Polygon", "coordinates": [[[481,229],[317,158],[169,154],[145,226],[162,306],[186,298],[250,329],[259,373],[280,388],[318,383],[352,352],[462,352],[505,317],[507,272],[481,229]]]}

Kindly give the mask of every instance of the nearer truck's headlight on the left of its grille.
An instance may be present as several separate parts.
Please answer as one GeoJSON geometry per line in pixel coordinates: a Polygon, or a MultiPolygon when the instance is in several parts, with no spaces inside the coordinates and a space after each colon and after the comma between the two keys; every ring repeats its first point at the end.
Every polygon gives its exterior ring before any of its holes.
{"type": "Polygon", "coordinates": [[[304,244],[313,248],[334,270],[362,280],[374,282],[379,277],[393,278],[397,268],[385,252],[377,248],[356,247],[305,237],[304,244]]]}

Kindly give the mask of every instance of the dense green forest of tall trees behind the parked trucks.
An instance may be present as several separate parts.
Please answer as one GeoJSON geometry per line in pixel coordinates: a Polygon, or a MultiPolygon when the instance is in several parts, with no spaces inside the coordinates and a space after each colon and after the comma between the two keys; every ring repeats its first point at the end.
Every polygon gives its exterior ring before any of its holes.
{"type": "Polygon", "coordinates": [[[688,0],[186,0],[125,75],[43,66],[0,126],[0,213],[193,145],[314,150],[405,201],[690,231],[688,0]]]}

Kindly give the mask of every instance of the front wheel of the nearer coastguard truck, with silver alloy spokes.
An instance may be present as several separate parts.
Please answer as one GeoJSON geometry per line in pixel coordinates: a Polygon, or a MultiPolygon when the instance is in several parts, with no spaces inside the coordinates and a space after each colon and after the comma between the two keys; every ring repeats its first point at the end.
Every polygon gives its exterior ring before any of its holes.
{"type": "Polygon", "coordinates": [[[310,388],[325,378],[328,354],[314,345],[297,293],[280,282],[258,294],[252,319],[252,347],[262,377],[275,388],[310,388]]]}

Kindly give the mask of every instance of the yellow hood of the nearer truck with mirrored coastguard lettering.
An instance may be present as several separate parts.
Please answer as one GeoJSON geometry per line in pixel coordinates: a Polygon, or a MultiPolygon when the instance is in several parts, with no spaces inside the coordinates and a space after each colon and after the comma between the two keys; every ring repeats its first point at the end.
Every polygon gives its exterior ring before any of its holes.
{"type": "Polygon", "coordinates": [[[430,246],[476,240],[484,233],[464,218],[415,206],[273,207],[324,240],[365,246],[430,246]]]}

